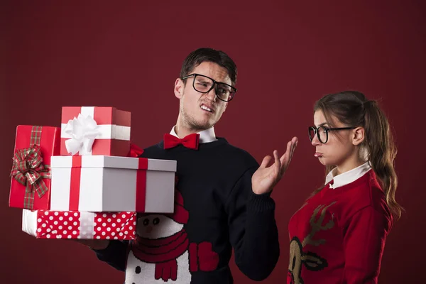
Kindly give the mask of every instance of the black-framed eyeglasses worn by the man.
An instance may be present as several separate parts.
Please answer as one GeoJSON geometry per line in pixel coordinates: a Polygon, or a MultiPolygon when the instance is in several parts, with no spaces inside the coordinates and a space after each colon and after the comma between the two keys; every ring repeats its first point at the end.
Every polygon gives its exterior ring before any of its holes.
{"type": "Polygon", "coordinates": [[[231,99],[234,99],[236,88],[232,87],[230,84],[217,82],[210,77],[196,73],[187,75],[183,77],[182,80],[189,77],[194,77],[192,87],[194,87],[197,92],[207,94],[214,88],[214,94],[216,94],[216,97],[221,101],[229,102],[231,99]]]}

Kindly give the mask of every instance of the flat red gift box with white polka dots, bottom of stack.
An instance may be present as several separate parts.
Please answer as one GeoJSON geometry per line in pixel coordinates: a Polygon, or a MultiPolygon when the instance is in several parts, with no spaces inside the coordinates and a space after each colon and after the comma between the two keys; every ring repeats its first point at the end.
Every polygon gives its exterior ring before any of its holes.
{"type": "Polygon", "coordinates": [[[22,230],[38,239],[136,239],[135,212],[23,209],[22,230]]]}

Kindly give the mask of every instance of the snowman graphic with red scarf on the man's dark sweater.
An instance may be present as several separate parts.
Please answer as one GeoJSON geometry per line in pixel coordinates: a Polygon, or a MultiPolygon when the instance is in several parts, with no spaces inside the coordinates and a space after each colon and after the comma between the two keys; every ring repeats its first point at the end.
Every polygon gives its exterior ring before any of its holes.
{"type": "Polygon", "coordinates": [[[184,225],[189,212],[175,190],[173,214],[142,214],[138,217],[136,240],[130,244],[125,284],[188,284],[191,273],[214,271],[219,255],[212,244],[190,243],[184,225]]]}

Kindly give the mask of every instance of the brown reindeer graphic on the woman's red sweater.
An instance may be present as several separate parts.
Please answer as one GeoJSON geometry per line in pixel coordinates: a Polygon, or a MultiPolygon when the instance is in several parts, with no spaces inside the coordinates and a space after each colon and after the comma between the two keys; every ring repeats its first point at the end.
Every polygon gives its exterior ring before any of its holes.
{"type": "MultiPolygon", "coordinates": [[[[293,237],[290,241],[290,261],[288,264],[288,284],[303,284],[304,281],[300,276],[302,271],[302,266],[305,266],[310,271],[320,271],[327,267],[327,260],[318,256],[316,253],[310,251],[303,251],[307,244],[313,246],[320,246],[325,243],[324,239],[314,239],[315,234],[318,231],[325,231],[332,229],[334,226],[334,220],[329,219],[329,221],[323,225],[324,218],[326,217],[327,209],[336,202],[324,206],[320,205],[315,210],[312,216],[310,217],[310,226],[311,231],[303,241],[300,241],[297,236],[293,237]],[[321,211],[321,212],[320,212],[321,211]],[[318,213],[320,216],[317,218],[318,213]],[[290,282],[289,282],[290,281],[290,282]]],[[[304,207],[305,204],[302,206],[304,207]]]]}

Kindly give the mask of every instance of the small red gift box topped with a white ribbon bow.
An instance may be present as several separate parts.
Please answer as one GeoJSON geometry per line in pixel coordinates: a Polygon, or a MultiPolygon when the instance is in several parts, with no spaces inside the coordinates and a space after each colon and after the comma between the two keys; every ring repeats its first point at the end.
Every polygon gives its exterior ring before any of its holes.
{"type": "Polygon", "coordinates": [[[60,155],[130,151],[131,113],[114,107],[62,107],[60,155]]]}

